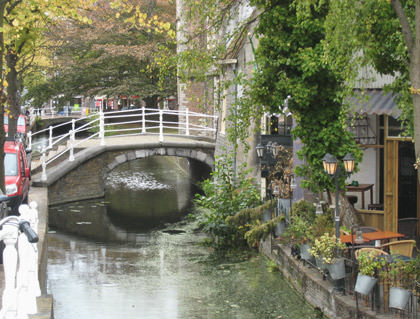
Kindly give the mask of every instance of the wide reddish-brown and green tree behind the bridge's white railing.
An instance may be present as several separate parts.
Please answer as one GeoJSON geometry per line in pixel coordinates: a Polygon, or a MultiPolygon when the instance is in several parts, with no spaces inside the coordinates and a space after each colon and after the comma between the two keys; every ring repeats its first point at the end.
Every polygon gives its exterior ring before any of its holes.
{"type": "Polygon", "coordinates": [[[86,13],[92,23],[56,25],[48,33],[49,77],[31,86],[27,98],[42,103],[58,94],[63,101],[75,95],[136,95],[156,101],[174,94],[175,68],[165,69],[161,59],[162,52],[175,53],[174,9],[166,2],[117,7],[97,1],[96,10],[86,13]]]}

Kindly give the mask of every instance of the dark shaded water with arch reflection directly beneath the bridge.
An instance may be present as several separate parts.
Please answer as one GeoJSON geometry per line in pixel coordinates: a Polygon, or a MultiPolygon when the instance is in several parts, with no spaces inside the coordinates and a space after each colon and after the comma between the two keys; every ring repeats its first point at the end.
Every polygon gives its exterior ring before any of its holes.
{"type": "Polygon", "coordinates": [[[50,208],[50,227],[101,241],[139,241],[139,231],[185,216],[194,190],[179,168],[184,159],[124,163],[106,180],[105,198],[50,208]]]}

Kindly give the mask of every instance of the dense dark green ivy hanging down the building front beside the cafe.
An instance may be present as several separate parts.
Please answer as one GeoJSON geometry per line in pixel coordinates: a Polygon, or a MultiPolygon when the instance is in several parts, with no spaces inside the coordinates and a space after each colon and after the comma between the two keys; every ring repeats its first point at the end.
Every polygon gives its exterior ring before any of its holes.
{"type": "MultiPolygon", "coordinates": [[[[308,5],[305,12],[297,11],[290,1],[255,0],[253,4],[262,14],[257,27],[259,72],[252,83],[252,97],[257,105],[265,105],[273,113],[285,97],[291,96],[288,108],[297,122],[293,136],[302,140],[298,156],[306,162],[295,172],[305,177],[305,188],[314,192],[333,189],[332,180],[323,170],[324,155],[331,153],[340,159],[350,152],[360,161],[361,151],[346,130],[343,78],[324,61],[322,41],[328,2],[308,5]]],[[[341,176],[341,187],[344,180],[341,176]]]]}

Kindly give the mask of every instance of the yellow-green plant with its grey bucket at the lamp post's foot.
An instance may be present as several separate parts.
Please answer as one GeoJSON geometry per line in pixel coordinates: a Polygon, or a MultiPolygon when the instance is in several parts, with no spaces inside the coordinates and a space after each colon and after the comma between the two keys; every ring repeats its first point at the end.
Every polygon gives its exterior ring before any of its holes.
{"type": "Polygon", "coordinates": [[[345,277],[344,258],[342,258],[342,250],[345,245],[336,240],[335,235],[326,232],[318,238],[315,238],[309,254],[315,258],[322,258],[326,264],[326,268],[333,280],[345,277]]]}

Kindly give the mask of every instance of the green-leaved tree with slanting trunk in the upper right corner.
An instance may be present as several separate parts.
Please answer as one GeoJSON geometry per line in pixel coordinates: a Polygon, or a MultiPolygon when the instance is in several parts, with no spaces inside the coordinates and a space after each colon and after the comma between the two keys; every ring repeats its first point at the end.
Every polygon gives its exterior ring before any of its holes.
{"type": "MultiPolygon", "coordinates": [[[[400,118],[420,158],[420,1],[331,1],[326,20],[325,59],[348,83],[371,65],[395,76],[385,90],[397,96],[400,118]]],[[[418,174],[420,181],[420,172],[418,174]]]]}

